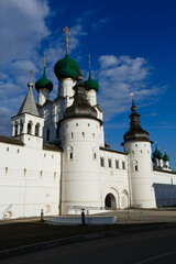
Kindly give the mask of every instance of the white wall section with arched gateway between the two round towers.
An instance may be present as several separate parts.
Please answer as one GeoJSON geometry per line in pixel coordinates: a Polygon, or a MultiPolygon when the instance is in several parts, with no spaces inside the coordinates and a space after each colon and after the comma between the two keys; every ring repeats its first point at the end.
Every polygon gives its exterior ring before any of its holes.
{"type": "MultiPolygon", "coordinates": [[[[110,150],[100,150],[101,202],[106,197],[114,200],[112,208],[127,208],[130,205],[128,155],[110,150]]],[[[107,208],[108,209],[108,208],[107,208]]]]}

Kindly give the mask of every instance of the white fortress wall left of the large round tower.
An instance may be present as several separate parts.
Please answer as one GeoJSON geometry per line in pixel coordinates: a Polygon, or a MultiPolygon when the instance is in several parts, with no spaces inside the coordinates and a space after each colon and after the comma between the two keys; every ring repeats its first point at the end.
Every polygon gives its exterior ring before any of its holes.
{"type": "Polygon", "coordinates": [[[59,212],[61,154],[0,142],[0,219],[59,212]]]}

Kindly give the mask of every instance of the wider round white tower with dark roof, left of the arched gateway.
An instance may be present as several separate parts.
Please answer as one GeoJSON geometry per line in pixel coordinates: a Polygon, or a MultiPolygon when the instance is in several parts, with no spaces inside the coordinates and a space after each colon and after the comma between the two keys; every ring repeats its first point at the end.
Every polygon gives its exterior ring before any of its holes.
{"type": "Polygon", "coordinates": [[[63,153],[62,213],[98,210],[100,204],[100,125],[97,111],[85,94],[81,74],[74,87],[74,102],[61,121],[63,153]]]}

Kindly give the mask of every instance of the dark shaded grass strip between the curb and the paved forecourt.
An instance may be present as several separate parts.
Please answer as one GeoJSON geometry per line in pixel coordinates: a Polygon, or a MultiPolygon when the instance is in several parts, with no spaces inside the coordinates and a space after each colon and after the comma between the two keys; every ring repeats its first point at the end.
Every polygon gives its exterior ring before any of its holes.
{"type": "MultiPolygon", "coordinates": [[[[112,226],[50,226],[21,222],[0,226],[0,251],[73,235],[146,226],[145,223],[112,226]]],[[[148,226],[148,224],[147,224],[148,226]]]]}

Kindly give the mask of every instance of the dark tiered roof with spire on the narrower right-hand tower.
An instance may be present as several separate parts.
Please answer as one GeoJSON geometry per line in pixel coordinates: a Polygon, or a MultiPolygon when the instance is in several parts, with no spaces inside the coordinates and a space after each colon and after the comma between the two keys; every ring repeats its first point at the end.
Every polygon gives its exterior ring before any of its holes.
{"type": "Polygon", "coordinates": [[[148,141],[150,134],[141,128],[140,122],[140,114],[136,112],[136,107],[134,105],[134,98],[132,99],[132,113],[130,114],[130,130],[124,134],[123,139],[124,142],[130,140],[141,140],[141,141],[148,141]]]}

